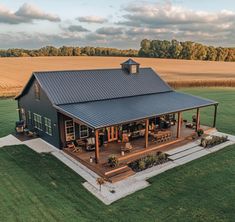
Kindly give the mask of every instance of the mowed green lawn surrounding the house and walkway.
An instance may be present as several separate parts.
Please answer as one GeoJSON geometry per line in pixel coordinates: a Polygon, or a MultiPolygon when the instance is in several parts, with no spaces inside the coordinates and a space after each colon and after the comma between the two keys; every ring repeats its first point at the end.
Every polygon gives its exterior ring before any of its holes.
{"type": "MultiPolygon", "coordinates": [[[[235,89],[184,91],[219,101],[218,127],[235,133],[235,89]]],[[[0,101],[0,110],[8,102],[0,101]]],[[[15,105],[9,105],[15,112],[15,105]]],[[[10,108],[4,109],[14,118],[10,108]]],[[[1,135],[10,127],[1,126],[1,135]]],[[[156,176],[149,180],[150,187],[105,206],[82,187],[82,178],[53,156],[25,146],[1,148],[0,221],[234,221],[234,172],[231,146],[156,176]]]]}

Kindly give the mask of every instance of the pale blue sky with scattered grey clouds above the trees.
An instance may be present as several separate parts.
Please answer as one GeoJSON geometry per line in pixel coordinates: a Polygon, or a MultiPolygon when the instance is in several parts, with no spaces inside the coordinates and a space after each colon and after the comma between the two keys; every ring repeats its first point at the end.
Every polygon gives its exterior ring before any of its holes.
{"type": "Polygon", "coordinates": [[[0,0],[0,48],[140,46],[142,39],[235,47],[234,0],[0,0]]]}

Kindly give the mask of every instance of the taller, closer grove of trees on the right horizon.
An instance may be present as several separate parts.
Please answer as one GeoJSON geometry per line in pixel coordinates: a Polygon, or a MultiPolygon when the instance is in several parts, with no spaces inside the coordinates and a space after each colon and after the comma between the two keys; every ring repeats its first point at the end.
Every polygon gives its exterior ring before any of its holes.
{"type": "Polygon", "coordinates": [[[140,44],[140,57],[208,61],[235,61],[235,48],[206,46],[191,41],[148,40],[140,44]]]}

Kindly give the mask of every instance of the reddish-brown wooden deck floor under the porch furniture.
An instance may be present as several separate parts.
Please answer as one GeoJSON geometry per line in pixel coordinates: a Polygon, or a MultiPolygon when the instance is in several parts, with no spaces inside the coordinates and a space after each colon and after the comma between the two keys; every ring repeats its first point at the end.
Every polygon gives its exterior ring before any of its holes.
{"type": "MultiPolygon", "coordinates": [[[[208,130],[209,127],[201,127],[204,130],[208,130]]],[[[122,156],[121,154],[121,147],[123,146],[122,143],[118,142],[110,142],[106,147],[100,147],[100,159],[99,163],[96,164],[95,161],[92,163],[90,162],[90,157],[95,157],[95,152],[87,152],[82,150],[81,152],[74,153],[69,149],[64,149],[66,153],[71,155],[73,158],[79,160],[82,164],[87,166],[92,171],[96,172],[98,175],[102,177],[107,177],[108,175],[114,175],[115,172],[118,174],[119,172],[125,171],[127,164],[140,159],[143,156],[148,154],[156,153],[158,151],[167,151],[170,149],[177,148],[179,146],[185,145],[192,141],[192,134],[194,134],[194,130],[182,127],[181,137],[179,139],[176,138],[175,129],[172,127],[172,138],[169,141],[165,141],[162,143],[155,143],[152,141],[152,138],[149,137],[149,146],[148,148],[144,148],[145,145],[145,138],[138,138],[131,141],[133,149],[130,152],[125,152],[125,155],[122,156]],[[107,160],[110,155],[115,155],[119,159],[119,166],[115,169],[110,168],[107,165],[107,160]]],[[[126,173],[127,175],[130,174],[126,173]]]]}

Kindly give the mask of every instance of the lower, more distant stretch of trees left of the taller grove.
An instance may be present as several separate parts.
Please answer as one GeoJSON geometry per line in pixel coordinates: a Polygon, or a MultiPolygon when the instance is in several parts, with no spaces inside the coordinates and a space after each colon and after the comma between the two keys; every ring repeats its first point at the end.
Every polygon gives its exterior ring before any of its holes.
{"type": "Polygon", "coordinates": [[[0,57],[24,57],[24,56],[138,56],[135,49],[116,49],[105,47],[69,47],[46,46],[40,49],[7,49],[0,50],[0,57]]]}

